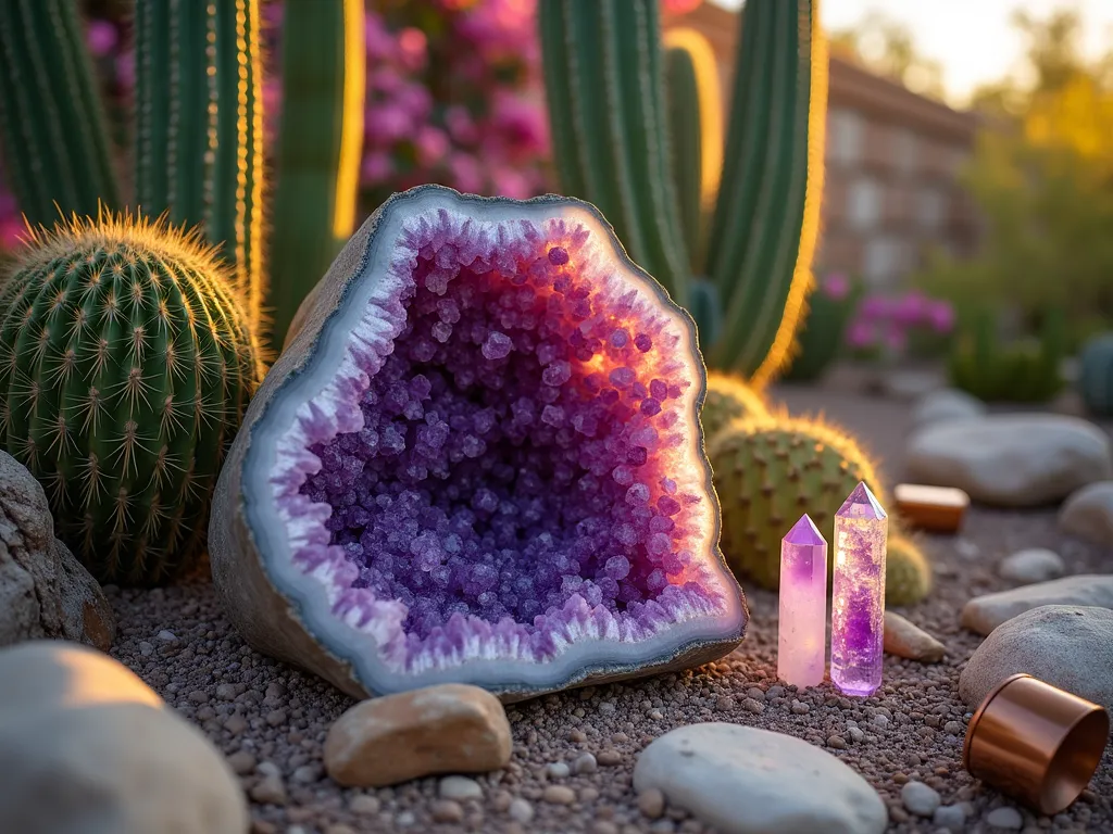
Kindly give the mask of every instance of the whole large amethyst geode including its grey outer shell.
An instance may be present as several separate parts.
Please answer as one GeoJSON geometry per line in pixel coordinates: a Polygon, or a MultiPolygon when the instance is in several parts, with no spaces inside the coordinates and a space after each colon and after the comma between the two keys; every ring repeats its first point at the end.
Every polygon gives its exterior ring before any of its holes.
{"type": "Polygon", "coordinates": [[[260,651],[364,696],[505,699],[741,639],[691,319],[590,205],[423,186],[303,304],[209,545],[260,651]]]}

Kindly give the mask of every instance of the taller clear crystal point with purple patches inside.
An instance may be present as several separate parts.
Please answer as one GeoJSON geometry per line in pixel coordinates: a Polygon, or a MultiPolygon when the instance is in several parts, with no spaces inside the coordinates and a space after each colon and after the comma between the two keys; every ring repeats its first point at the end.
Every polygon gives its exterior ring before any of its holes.
{"type": "Polygon", "coordinates": [[[888,524],[865,484],[835,514],[831,682],[846,695],[865,697],[881,685],[888,524]]]}

